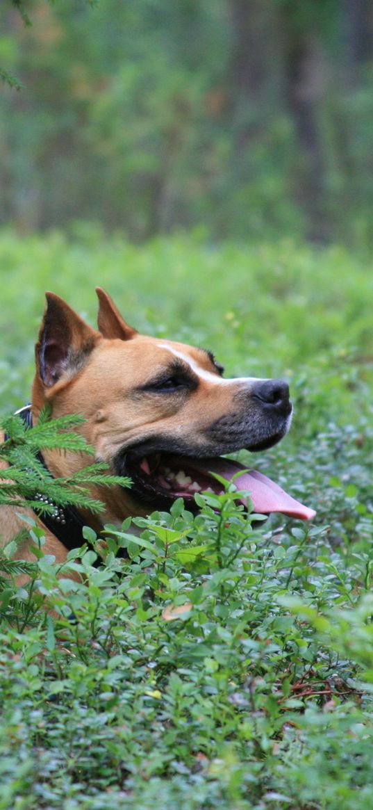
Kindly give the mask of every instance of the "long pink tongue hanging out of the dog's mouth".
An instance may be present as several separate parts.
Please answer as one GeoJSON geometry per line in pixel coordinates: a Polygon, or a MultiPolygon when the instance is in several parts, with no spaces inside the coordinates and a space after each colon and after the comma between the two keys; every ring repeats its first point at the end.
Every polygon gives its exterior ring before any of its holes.
{"type": "Polygon", "coordinates": [[[243,470],[235,478],[235,486],[239,490],[248,492],[254,505],[254,511],[258,514],[282,512],[282,514],[290,515],[291,518],[301,518],[302,520],[311,520],[316,515],[315,509],[308,509],[299,501],[295,501],[295,498],[288,495],[278,484],[257,470],[244,472],[242,464],[226,458],[220,458],[218,462],[216,459],[209,458],[206,463],[200,463],[198,460],[198,467],[216,472],[227,480],[231,480],[233,475],[243,470]]]}

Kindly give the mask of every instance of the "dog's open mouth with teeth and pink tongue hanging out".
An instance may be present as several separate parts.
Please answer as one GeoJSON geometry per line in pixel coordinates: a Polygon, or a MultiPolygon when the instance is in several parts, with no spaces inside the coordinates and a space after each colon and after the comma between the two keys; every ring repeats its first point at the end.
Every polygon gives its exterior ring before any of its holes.
{"type": "MultiPolygon", "coordinates": [[[[256,470],[228,458],[193,458],[168,453],[152,453],[142,458],[125,459],[125,472],[133,480],[136,499],[156,509],[170,509],[178,497],[184,498],[191,511],[197,510],[196,492],[223,492],[223,485],[214,477],[220,475],[231,481],[239,492],[251,498],[257,514],[280,512],[293,518],[310,520],[316,512],[295,501],[278,484],[256,470]]],[[[245,503],[245,499],[240,499],[245,503]]]]}

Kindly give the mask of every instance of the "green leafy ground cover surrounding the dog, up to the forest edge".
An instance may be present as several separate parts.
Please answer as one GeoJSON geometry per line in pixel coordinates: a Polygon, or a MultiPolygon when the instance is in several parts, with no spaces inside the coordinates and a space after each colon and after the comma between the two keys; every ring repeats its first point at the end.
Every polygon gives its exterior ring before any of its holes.
{"type": "Polygon", "coordinates": [[[100,284],[228,375],[289,379],[289,437],[241,458],[317,515],[252,528],[228,488],[123,527],[99,568],[73,555],[74,585],[34,529],[32,588],[0,595],[0,810],[371,810],[371,269],[337,247],[2,233],[2,411],[28,400],[45,289],[95,323],[100,284]]]}

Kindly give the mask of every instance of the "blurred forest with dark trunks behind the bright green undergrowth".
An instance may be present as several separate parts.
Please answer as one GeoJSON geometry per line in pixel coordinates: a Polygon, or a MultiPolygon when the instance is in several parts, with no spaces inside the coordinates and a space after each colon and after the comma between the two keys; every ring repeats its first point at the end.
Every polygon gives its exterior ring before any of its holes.
{"type": "Polygon", "coordinates": [[[371,0],[2,0],[0,223],[373,244],[371,0]]]}

